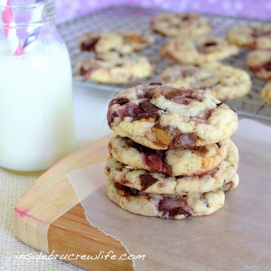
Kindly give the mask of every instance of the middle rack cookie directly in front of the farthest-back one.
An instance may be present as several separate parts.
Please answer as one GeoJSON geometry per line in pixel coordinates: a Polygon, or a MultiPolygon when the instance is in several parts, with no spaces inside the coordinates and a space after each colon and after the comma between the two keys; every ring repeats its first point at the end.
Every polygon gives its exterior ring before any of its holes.
{"type": "Polygon", "coordinates": [[[182,64],[216,62],[235,56],[239,49],[220,37],[178,37],[169,39],[161,48],[163,58],[182,64]]]}

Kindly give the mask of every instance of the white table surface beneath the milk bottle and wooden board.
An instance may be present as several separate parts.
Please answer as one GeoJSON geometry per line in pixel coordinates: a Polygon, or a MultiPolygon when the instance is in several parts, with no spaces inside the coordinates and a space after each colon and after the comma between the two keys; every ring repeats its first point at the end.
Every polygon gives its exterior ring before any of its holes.
{"type": "MultiPolygon", "coordinates": [[[[78,147],[111,133],[106,122],[106,111],[108,102],[115,94],[73,87],[75,134],[78,147]]],[[[37,259],[40,252],[23,244],[15,237],[13,206],[38,176],[39,174],[18,175],[0,168],[0,270],[81,270],[62,260],[37,259]],[[20,255],[23,256],[18,259],[20,255]]]]}

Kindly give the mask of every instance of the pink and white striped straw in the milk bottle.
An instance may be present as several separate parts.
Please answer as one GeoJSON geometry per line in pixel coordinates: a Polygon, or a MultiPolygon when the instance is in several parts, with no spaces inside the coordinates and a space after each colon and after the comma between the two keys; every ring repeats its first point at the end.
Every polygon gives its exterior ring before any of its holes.
{"type": "Polygon", "coordinates": [[[22,55],[24,53],[24,50],[17,36],[17,32],[15,29],[16,24],[13,21],[13,14],[11,8],[9,7],[9,1],[0,0],[0,5],[6,6],[2,12],[2,21],[5,24],[5,36],[8,39],[12,53],[15,56],[22,55]]]}

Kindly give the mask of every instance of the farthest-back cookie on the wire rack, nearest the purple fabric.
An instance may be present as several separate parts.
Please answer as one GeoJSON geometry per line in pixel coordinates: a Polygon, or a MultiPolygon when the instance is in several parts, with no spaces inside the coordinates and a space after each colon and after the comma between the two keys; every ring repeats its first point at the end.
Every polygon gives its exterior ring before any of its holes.
{"type": "Polygon", "coordinates": [[[149,28],[166,36],[198,36],[211,31],[209,21],[196,13],[162,13],[151,20],[149,28]]]}

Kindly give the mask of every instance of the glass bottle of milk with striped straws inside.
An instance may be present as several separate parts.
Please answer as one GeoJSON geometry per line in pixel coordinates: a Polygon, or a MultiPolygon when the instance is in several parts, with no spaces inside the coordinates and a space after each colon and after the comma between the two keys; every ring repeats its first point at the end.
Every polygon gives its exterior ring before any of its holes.
{"type": "Polygon", "coordinates": [[[71,67],[55,3],[0,0],[0,13],[0,167],[45,170],[75,149],[71,67]]]}

